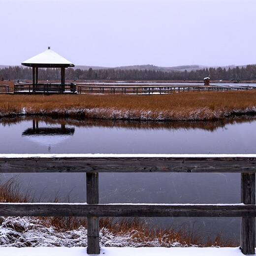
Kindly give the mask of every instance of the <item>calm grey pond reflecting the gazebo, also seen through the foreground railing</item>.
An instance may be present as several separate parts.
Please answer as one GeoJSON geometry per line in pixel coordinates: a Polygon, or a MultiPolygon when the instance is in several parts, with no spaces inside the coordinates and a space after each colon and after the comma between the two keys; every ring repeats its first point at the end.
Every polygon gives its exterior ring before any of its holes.
{"type": "MultiPolygon", "coordinates": [[[[218,122],[135,122],[39,117],[0,119],[0,153],[256,154],[256,118],[218,122]]],[[[38,201],[85,202],[83,173],[2,174],[18,177],[38,201]]],[[[238,203],[238,173],[100,173],[100,203],[238,203]]],[[[152,218],[205,236],[239,240],[239,218],[152,218]]]]}

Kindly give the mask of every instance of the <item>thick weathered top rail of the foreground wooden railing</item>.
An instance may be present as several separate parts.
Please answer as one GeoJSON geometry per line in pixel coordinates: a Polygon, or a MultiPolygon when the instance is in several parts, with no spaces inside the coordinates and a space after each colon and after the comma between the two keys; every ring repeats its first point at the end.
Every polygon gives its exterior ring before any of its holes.
{"type": "MultiPolygon", "coordinates": [[[[62,157],[41,155],[8,158],[0,155],[0,172],[256,172],[253,157],[62,157]]],[[[73,156],[73,155],[72,155],[73,156]]],[[[93,155],[92,155],[93,156],[93,155]]],[[[130,155],[132,156],[132,155],[130,155]]],[[[245,155],[246,156],[246,155],[245,155]]]]}

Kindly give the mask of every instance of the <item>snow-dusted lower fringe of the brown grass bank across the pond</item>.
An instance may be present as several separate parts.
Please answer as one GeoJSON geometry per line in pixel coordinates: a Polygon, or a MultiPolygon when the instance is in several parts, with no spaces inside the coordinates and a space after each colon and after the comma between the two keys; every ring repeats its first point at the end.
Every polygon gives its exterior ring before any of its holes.
{"type": "Polygon", "coordinates": [[[0,113],[0,116],[10,115],[53,115],[68,117],[99,118],[112,120],[141,120],[141,121],[200,121],[224,119],[232,115],[255,114],[256,107],[245,109],[212,110],[208,107],[196,109],[172,110],[141,110],[141,109],[117,109],[117,108],[70,108],[52,109],[44,108],[39,111],[22,108],[20,112],[0,113]]]}

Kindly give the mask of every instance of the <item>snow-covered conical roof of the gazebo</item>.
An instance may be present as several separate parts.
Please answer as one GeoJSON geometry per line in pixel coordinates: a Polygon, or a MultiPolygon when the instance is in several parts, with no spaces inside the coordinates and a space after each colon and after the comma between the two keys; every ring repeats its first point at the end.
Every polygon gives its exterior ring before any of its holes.
{"type": "Polygon", "coordinates": [[[39,66],[39,67],[61,67],[61,66],[75,66],[58,53],[52,51],[50,47],[40,54],[21,63],[25,66],[39,66]]]}

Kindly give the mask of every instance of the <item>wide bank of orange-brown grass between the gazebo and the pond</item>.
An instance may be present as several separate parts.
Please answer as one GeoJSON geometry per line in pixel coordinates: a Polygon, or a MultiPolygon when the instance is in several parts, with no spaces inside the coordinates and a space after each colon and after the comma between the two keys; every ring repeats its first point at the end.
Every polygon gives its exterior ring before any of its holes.
{"type": "Polygon", "coordinates": [[[0,116],[157,121],[217,120],[256,114],[256,90],[173,95],[0,95],[0,116]]]}

